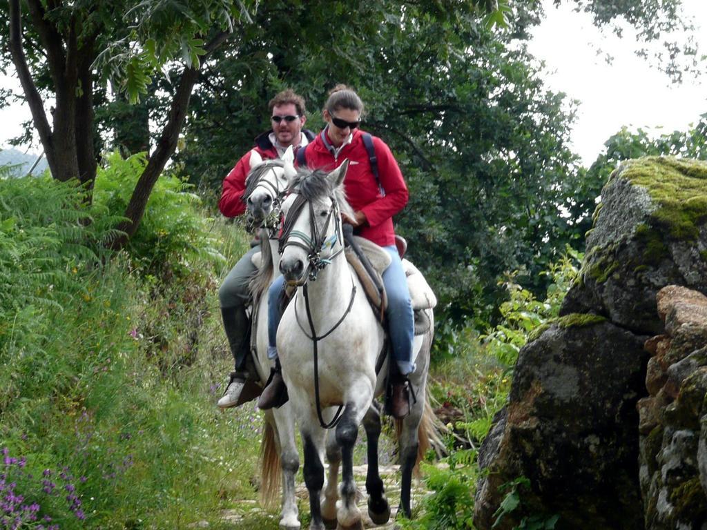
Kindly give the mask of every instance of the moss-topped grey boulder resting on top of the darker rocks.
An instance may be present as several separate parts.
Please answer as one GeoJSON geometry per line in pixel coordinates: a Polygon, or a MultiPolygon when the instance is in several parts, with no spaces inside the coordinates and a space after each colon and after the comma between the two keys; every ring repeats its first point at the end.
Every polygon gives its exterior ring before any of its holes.
{"type": "Polygon", "coordinates": [[[602,190],[578,281],[561,314],[594,312],[658,334],[655,295],[665,285],[707,293],[707,163],[629,160],[602,190]]]}

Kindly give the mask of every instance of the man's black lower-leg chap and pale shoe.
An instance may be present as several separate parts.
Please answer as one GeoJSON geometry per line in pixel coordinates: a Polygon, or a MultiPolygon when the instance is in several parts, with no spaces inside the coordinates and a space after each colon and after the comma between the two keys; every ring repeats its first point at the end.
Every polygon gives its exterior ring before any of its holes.
{"type": "Polygon", "coordinates": [[[221,307],[223,328],[226,330],[228,346],[233,355],[235,370],[230,372],[226,391],[218,400],[220,408],[243,405],[259,396],[261,387],[257,384],[257,375],[247,370],[247,355],[250,354],[250,320],[245,307],[221,307]]]}

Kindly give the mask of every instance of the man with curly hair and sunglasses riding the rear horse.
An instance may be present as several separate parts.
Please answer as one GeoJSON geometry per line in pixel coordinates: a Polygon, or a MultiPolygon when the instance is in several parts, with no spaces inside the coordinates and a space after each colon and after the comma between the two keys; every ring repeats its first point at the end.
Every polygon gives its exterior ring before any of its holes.
{"type": "MultiPolygon", "coordinates": [[[[256,137],[255,146],[238,160],[223,180],[218,208],[226,217],[245,213],[243,194],[253,151],[263,160],[276,159],[281,158],[289,146],[298,149],[314,139],[312,131],[302,129],[307,117],[305,100],[300,95],[292,90],[284,90],[270,100],[268,107],[272,128],[256,137]]],[[[250,353],[250,319],[245,307],[250,301],[250,278],[257,272],[251,261],[256,252],[260,252],[260,245],[252,247],[238,260],[218,290],[223,328],[235,365],[233,372],[230,372],[226,391],[218,400],[218,406],[222,409],[240,406],[255,399],[260,393],[257,374],[249,374],[246,367],[247,355],[250,353]]]]}

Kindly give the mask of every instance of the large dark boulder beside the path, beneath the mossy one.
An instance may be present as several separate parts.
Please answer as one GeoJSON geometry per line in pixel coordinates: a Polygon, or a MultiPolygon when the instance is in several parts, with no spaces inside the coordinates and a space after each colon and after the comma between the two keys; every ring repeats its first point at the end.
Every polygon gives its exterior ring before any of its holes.
{"type": "Polygon", "coordinates": [[[523,510],[496,528],[512,529],[523,514],[559,515],[558,529],[643,527],[636,401],[645,338],[573,315],[521,349],[507,410],[479,452],[488,474],[477,528],[493,526],[501,485],[519,477],[530,480],[523,510]]]}

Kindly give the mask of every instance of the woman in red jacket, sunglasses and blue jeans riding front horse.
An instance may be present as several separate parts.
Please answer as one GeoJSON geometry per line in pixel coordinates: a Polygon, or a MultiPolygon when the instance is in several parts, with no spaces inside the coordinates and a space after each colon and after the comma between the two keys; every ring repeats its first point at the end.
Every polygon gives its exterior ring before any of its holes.
{"type": "MultiPolygon", "coordinates": [[[[344,223],[354,226],[356,235],[380,245],[392,259],[382,278],[387,292],[386,317],[395,363],[392,363],[391,383],[393,416],[406,416],[409,411],[407,375],[414,371],[411,362],[414,318],[407,280],[402,262],[395,247],[392,216],[404,208],[408,200],[407,185],[390,148],[381,139],[373,140],[375,160],[370,159],[368,148],[360,129],[363,102],[354,90],[344,85],[336,86],[330,93],[323,110],[327,126],[307,146],[304,153],[309,167],[331,171],[349,159],[344,187],[349,204],[354,208],[354,218],[344,217],[344,223]],[[373,163],[377,166],[375,175],[373,163]]],[[[301,160],[301,159],[300,159],[301,160]]],[[[270,288],[269,336],[270,356],[276,358],[275,337],[281,315],[277,308],[284,287],[280,277],[270,288]]],[[[258,401],[259,408],[280,406],[286,401],[286,388],[279,372],[279,362],[258,401]]]]}

